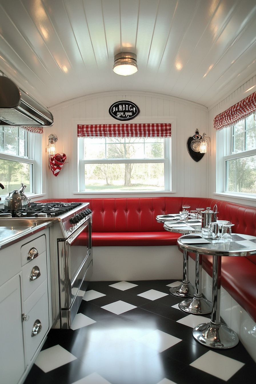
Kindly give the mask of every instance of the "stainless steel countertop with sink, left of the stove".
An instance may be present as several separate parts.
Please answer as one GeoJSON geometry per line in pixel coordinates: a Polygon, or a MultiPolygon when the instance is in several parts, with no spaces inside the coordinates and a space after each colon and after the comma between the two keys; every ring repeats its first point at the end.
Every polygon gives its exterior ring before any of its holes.
{"type": "Polygon", "coordinates": [[[48,220],[47,218],[0,219],[0,250],[22,240],[23,238],[50,227],[57,221],[57,218],[56,220],[48,220]]]}

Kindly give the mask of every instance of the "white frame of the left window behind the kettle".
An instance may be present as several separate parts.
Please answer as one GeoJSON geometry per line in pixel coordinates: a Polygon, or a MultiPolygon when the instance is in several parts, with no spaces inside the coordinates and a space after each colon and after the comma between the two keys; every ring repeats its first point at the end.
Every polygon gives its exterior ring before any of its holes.
{"type": "MultiPolygon", "coordinates": [[[[32,165],[30,171],[32,192],[26,193],[25,191],[26,195],[30,197],[42,194],[42,136],[42,134],[33,133],[29,131],[27,132],[27,156],[23,157],[0,151],[0,159],[23,162],[32,165]]],[[[5,199],[5,196],[7,195],[8,192],[6,195],[1,195],[2,204],[3,200],[5,199]]]]}

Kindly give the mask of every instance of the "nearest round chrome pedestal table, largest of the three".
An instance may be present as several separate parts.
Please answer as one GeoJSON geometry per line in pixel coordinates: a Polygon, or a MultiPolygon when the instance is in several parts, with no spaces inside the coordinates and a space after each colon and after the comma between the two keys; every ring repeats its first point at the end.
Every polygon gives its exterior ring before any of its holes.
{"type": "MultiPolygon", "coordinates": [[[[195,239],[196,240],[196,239],[195,239]]],[[[186,236],[178,238],[182,250],[213,255],[213,288],[212,311],[210,323],[197,325],[193,329],[193,337],[201,344],[215,349],[228,349],[236,346],[239,339],[237,334],[220,322],[220,287],[221,287],[221,257],[250,256],[256,254],[256,237],[232,234],[231,238],[205,239],[206,244],[186,243],[186,236]]],[[[200,239],[199,241],[200,242],[200,239]]]]}

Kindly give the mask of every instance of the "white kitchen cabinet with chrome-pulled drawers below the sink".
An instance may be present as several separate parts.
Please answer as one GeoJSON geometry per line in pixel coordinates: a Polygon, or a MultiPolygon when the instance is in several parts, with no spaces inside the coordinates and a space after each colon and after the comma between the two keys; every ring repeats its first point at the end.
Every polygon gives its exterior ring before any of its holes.
{"type": "Polygon", "coordinates": [[[21,384],[52,325],[48,228],[1,249],[0,271],[0,384],[21,384]]]}

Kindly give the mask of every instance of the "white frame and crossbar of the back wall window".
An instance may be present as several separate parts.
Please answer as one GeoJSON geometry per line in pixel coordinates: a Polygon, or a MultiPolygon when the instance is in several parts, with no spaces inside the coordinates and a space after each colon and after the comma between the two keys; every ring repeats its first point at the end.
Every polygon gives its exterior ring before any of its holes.
{"type": "MultiPolygon", "coordinates": [[[[120,191],[116,190],[113,192],[109,191],[91,191],[91,193],[138,193],[138,192],[170,192],[170,183],[171,183],[171,177],[168,177],[171,172],[171,143],[172,138],[165,138],[164,139],[164,158],[155,158],[155,159],[92,159],[92,160],[85,160],[83,159],[84,154],[84,140],[81,140],[83,138],[78,137],[78,191],[80,193],[88,193],[88,191],[85,191],[85,184],[84,184],[84,165],[85,164],[149,164],[149,163],[163,163],[164,164],[164,185],[165,189],[163,190],[152,190],[152,191],[120,191]]],[[[154,139],[154,137],[152,138],[154,139]]]]}

